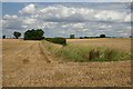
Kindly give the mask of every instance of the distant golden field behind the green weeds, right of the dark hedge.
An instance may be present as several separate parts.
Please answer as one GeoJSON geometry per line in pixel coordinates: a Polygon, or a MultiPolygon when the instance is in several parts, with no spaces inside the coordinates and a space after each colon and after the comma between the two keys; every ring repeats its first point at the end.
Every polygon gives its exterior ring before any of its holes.
{"type": "Polygon", "coordinates": [[[66,39],[66,41],[75,46],[109,47],[123,51],[131,51],[130,38],[66,39]]]}

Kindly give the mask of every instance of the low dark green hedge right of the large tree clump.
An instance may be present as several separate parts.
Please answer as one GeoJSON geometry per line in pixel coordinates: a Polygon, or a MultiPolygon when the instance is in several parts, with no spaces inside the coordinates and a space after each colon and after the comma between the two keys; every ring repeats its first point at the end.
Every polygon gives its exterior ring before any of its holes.
{"type": "Polygon", "coordinates": [[[66,44],[66,39],[65,38],[45,38],[47,41],[53,42],[53,43],[59,43],[59,44],[66,44]]]}

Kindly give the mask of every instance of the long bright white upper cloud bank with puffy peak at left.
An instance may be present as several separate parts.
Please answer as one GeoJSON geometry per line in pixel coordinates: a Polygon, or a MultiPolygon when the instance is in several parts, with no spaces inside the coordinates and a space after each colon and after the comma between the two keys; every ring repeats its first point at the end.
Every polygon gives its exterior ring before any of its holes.
{"type": "MultiPolygon", "coordinates": [[[[35,6],[30,3],[23,8],[21,13],[31,13],[31,18],[43,19],[45,21],[126,21],[124,18],[129,17],[125,12],[110,11],[110,10],[94,10],[89,8],[72,8],[61,4],[49,6],[45,8],[34,8],[35,6]],[[31,8],[31,9],[30,9],[31,8]]],[[[129,18],[126,18],[130,20],[129,18]]]]}

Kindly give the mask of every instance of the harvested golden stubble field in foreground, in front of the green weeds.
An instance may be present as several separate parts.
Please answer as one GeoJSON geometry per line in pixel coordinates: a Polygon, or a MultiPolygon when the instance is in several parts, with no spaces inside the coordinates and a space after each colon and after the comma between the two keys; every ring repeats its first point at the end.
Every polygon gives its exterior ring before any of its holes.
{"type": "Polygon", "coordinates": [[[40,41],[3,40],[4,87],[131,86],[130,61],[58,62],[40,41]]]}

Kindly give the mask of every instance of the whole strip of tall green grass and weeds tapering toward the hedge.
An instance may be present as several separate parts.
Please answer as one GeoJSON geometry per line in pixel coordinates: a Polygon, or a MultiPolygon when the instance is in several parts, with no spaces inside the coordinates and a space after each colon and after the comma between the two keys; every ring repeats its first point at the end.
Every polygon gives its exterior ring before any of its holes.
{"type": "Polygon", "coordinates": [[[130,60],[131,53],[104,47],[74,46],[68,43],[64,47],[44,42],[47,49],[55,57],[61,57],[68,61],[119,61],[130,60]]]}

